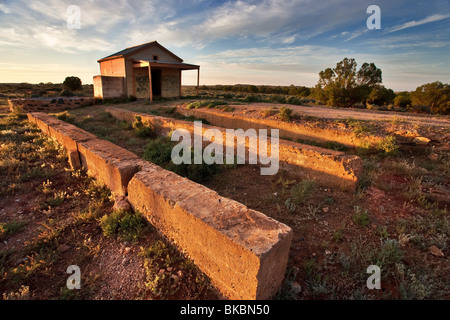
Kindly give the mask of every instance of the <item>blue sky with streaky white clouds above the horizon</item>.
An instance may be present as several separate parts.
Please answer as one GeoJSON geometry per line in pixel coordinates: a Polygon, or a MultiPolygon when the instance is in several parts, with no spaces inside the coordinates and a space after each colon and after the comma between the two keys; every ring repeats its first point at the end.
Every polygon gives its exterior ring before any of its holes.
{"type": "Polygon", "coordinates": [[[395,91],[450,83],[450,0],[0,0],[0,83],[92,83],[98,59],[154,40],[200,65],[201,85],[311,87],[345,57],[375,63],[395,91]]]}

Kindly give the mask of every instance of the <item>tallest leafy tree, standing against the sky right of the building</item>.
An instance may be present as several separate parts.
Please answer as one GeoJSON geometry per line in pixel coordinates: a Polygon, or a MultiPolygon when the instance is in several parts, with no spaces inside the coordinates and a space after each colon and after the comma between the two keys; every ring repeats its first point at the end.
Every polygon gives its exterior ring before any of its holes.
{"type": "Polygon", "coordinates": [[[334,69],[319,73],[315,98],[336,107],[351,107],[366,101],[372,89],[382,82],[381,70],[373,63],[364,63],[356,70],[355,59],[344,58],[334,69]]]}

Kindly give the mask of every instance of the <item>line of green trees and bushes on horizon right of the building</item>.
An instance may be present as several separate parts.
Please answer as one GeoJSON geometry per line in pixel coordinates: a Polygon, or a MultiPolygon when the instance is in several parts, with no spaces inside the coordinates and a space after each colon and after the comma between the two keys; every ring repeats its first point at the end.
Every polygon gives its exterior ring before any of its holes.
{"type": "Polygon", "coordinates": [[[363,63],[357,68],[356,60],[344,58],[335,68],[319,73],[313,88],[305,86],[216,85],[203,86],[203,90],[227,91],[247,94],[279,94],[314,99],[316,103],[333,107],[397,106],[418,113],[450,114],[450,85],[439,81],[417,87],[412,92],[395,93],[382,84],[382,71],[374,63],[363,63]]]}

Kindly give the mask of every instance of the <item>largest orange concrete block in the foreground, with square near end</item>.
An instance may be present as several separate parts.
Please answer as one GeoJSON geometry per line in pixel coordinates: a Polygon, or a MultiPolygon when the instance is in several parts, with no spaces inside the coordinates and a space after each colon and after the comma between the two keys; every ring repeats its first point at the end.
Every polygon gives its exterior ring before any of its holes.
{"type": "Polygon", "coordinates": [[[278,291],[292,240],[288,226],[156,165],[141,170],[128,185],[128,201],[225,296],[268,299],[278,291]]]}

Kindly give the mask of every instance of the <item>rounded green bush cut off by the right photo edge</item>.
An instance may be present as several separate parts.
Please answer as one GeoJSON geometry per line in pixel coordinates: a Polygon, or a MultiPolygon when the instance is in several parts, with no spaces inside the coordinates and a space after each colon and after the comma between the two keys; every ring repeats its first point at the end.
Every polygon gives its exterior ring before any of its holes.
{"type": "Polygon", "coordinates": [[[435,81],[417,87],[411,93],[414,106],[428,106],[433,113],[450,113],[450,85],[435,81]]]}

